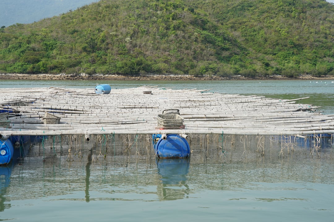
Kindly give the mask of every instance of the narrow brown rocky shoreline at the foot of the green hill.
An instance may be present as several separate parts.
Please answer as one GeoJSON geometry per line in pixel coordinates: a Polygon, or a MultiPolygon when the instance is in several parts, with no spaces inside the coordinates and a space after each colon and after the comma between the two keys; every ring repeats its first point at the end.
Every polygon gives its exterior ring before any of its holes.
{"type": "Polygon", "coordinates": [[[302,75],[299,77],[288,78],[281,75],[262,76],[262,77],[243,77],[240,75],[230,77],[220,76],[192,76],[192,75],[145,75],[145,76],[123,76],[123,75],[79,75],[72,74],[9,74],[0,73],[0,79],[32,79],[32,80],[264,80],[264,79],[334,79],[334,76],[314,77],[311,75],[302,75]]]}

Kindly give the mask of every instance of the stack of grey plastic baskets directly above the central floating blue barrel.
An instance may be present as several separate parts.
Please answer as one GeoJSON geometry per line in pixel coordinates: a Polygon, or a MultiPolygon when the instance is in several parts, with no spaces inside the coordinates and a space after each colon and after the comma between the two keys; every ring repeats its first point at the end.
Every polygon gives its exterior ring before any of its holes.
{"type": "Polygon", "coordinates": [[[182,129],[183,120],[178,109],[165,109],[157,117],[158,127],[164,130],[182,129]]]}

